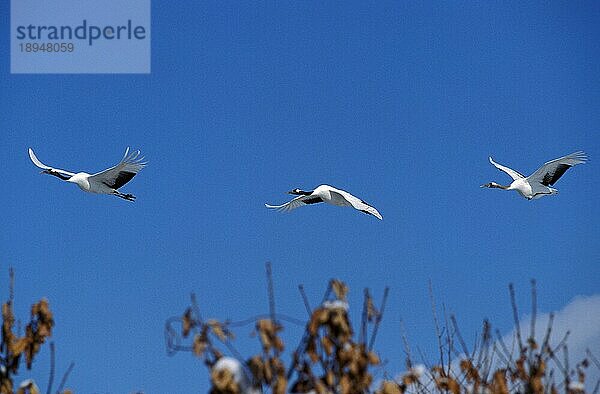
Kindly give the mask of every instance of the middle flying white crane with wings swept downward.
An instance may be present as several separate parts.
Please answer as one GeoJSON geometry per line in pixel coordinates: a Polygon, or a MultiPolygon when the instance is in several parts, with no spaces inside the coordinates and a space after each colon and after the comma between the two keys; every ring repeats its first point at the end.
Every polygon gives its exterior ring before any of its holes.
{"type": "Polygon", "coordinates": [[[267,208],[277,209],[279,211],[289,212],[298,207],[325,202],[327,204],[336,205],[338,207],[353,207],[361,212],[368,215],[373,215],[379,220],[383,220],[383,217],[375,209],[375,207],[369,205],[360,198],[353,196],[345,190],[337,189],[329,185],[320,185],[312,191],[303,191],[300,189],[294,189],[289,192],[290,194],[297,194],[298,197],[293,200],[282,204],[282,205],[269,205],[265,204],[267,208]]]}

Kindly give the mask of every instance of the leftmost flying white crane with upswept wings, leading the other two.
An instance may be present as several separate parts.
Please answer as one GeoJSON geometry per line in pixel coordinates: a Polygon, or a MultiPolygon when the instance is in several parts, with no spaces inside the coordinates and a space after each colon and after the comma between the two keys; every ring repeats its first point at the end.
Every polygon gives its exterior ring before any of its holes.
{"type": "Polygon", "coordinates": [[[112,194],[129,201],[135,200],[135,196],[132,194],[123,194],[118,189],[129,182],[146,166],[143,158],[139,157],[139,155],[140,151],[130,154],[129,148],[127,148],[119,164],[96,174],[88,174],[87,172],[73,173],[47,166],[37,158],[33,149],[29,148],[29,158],[33,164],[44,170],[42,173],[56,176],[65,182],[74,183],[84,192],[112,194]]]}

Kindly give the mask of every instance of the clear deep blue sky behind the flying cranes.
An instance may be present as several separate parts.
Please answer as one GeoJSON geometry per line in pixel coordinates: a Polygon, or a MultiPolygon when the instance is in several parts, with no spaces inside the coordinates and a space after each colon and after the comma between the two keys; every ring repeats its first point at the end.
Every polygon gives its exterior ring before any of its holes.
{"type": "MultiPolygon", "coordinates": [[[[5,54],[8,11],[1,2],[5,54]]],[[[354,312],[363,287],[379,299],[389,285],[378,348],[391,374],[404,368],[401,319],[436,355],[429,280],[468,338],[485,317],[510,332],[509,282],[523,313],[530,278],[542,312],[597,295],[599,22],[597,2],[155,0],[149,75],[11,75],[5,56],[2,297],[13,266],[23,319],[50,300],[58,373],[75,362],[76,392],[160,393],[208,386],[200,360],[166,355],[165,319],[192,291],[204,316],[266,312],[267,260],[277,309],[298,318],[297,284],[314,305],[343,279],[354,312]],[[42,176],[27,156],[95,172],[127,146],[150,163],[123,188],[134,204],[42,176]],[[509,180],[488,155],[527,174],[580,149],[590,161],[558,196],[479,188],[509,180]],[[322,183],[384,220],[263,206],[322,183]]],[[[247,355],[251,331],[235,342],[247,355]]],[[[288,347],[299,331],[287,327],[288,347]]],[[[22,377],[45,385],[48,360],[44,349],[22,377]]]]}

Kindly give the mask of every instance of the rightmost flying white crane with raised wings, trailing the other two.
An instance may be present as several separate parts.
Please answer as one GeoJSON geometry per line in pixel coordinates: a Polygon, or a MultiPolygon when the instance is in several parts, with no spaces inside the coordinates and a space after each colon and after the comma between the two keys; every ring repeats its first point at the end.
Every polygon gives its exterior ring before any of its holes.
{"type": "Polygon", "coordinates": [[[513,182],[508,186],[490,182],[481,185],[481,187],[516,190],[521,196],[528,200],[537,200],[544,196],[557,194],[558,190],[551,186],[554,185],[554,183],[556,183],[569,168],[577,164],[585,163],[587,161],[587,156],[584,152],[578,151],[558,159],[550,160],[528,177],[509,167],[496,163],[491,157],[489,160],[494,167],[508,174],[513,179],[513,182]]]}

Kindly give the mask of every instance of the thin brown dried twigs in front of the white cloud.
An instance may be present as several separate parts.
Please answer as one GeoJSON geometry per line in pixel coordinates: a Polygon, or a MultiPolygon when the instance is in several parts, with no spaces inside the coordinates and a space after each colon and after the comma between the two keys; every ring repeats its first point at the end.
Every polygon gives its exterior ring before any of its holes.
{"type": "MultiPolygon", "coordinates": [[[[376,391],[380,394],[392,393],[475,393],[475,394],[576,394],[585,391],[585,369],[590,367],[586,358],[570,369],[567,354],[567,335],[556,345],[550,343],[553,315],[550,315],[548,326],[539,341],[535,336],[537,313],[537,293],[535,281],[532,281],[532,316],[530,335],[523,340],[515,291],[509,286],[510,300],[515,322],[516,350],[511,350],[505,340],[496,331],[496,339],[492,336],[491,325],[484,321],[482,334],[475,349],[467,349],[456,318],[451,316],[451,325],[445,327],[442,338],[438,331],[440,344],[440,363],[415,378],[409,372],[394,380],[384,381],[376,391]],[[460,350],[455,343],[460,344],[460,350]],[[562,360],[561,360],[561,356],[562,360]],[[447,362],[444,363],[446,358],[447,362]]],[[[433,304],[433,303],[432,303],[433,304]]],[[[434,310],[435,317],[435,310],[434,310]]],[[[436,323],[437,324],[437,323],[436,323]]],[[[407,354],[407,365],[412,365],[411,355],[407,354]]],[[[590,359],[593,358],[588,351],[590,359]]],[[[600,365],[598,366],[600,368],[600,365]]],[[[595,382],[590,392],[597,393],[600,382],[595,382]]]]}

